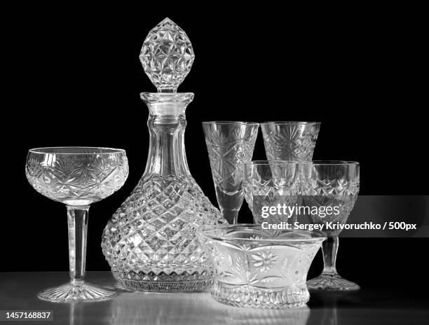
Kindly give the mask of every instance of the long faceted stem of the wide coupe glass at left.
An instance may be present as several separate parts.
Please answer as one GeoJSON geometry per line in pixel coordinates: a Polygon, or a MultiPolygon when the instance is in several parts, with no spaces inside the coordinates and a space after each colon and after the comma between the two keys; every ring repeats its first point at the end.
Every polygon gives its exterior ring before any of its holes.
{"type": "Polygon", "coordinates": [[[67,205],[70,279],[71,283],[76,285],[83,283],[83,277],[85,277],[88,210],[89,205],[81,207],[67,205]]]}

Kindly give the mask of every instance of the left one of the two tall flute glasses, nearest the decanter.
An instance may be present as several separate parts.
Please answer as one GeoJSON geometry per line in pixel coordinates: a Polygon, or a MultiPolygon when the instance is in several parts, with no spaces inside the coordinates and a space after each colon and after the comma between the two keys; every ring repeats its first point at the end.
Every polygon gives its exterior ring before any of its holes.
{"type": "Polygon", "coordinates": [[[228,223],[237,223],[243,205],[244,163],[252,160],[259,123],[203,122],[217,203],[228,223]]]}

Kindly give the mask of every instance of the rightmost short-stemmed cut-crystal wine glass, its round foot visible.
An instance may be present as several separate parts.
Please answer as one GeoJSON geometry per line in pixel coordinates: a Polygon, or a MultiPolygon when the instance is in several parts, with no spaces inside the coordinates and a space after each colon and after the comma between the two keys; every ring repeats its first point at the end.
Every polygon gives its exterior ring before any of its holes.
{"type": "MultiPolygon", "coordinates": [[[[311,163],[310,172],[304,173],[304,200],[311,207],[335,207],[337,214],[311,215],[313,223],[328,222],[344,224],[353,209],[359,193],[359,163],[353,161],[322,161],[311,163]]],[[[335,211],[335,209],[334,209],[335,211]]],[[[324,268],[321,275],[308,280],[309,289],[357,290],[360,287],[341,277],[336,272],[336,253],[339,246],[338,235],[341,230],[324,229],[327,240],[322,244],[324,268]]]]}

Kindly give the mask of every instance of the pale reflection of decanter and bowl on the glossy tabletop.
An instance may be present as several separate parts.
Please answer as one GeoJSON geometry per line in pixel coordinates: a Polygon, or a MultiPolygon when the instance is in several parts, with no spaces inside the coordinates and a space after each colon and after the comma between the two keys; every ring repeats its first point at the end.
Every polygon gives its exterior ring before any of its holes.
{"type": "Polygon", "coordinates": [[[305,325],[310,314],[307,306],[284,310],[231,307],[217,303],[210,293],[124,292],[109,303],[112,325],[305,325]]]}

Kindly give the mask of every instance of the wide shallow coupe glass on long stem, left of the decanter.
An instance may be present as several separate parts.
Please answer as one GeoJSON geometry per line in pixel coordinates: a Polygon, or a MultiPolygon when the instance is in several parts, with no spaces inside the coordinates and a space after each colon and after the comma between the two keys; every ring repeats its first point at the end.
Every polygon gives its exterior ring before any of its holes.
{"type": "Polygon", "coordinates": [[[71,280],[41,291],[39,298],[75,302],[116,296],[114,291],[83,282],[83,277],[88,209],[91,203],[107,198],[125,183],[128,177],[125,151],[91,147],[34,148],[28,152],[25,174],[36,191],[67,207],[71,280]]]}

